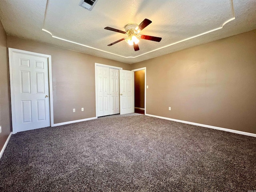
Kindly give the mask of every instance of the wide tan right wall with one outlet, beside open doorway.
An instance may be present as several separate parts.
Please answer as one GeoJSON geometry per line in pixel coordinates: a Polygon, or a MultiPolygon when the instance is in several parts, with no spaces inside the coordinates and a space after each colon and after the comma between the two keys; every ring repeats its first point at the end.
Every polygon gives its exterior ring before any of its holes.
{"type": "Polygon", "coordinates": [[[141,67],[147,114],[256,133],[256,30],[132,64],[141,67]]]}

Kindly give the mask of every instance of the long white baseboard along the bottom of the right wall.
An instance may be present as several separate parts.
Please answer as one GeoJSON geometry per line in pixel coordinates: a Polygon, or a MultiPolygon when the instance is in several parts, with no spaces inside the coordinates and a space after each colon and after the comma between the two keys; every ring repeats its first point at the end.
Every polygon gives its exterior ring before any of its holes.
{"type": "Polygon", "coordinates": [[[160,119],[166,119],[166,120],[170,120],[170,121],[186,123],[186,124],[190,124],[190,125],[207,127],[207,128],[211,128],[211,129],[218,129],[218,130],[222,130],[222,131],[227,131],[227,132],[237,133],[237,134],[241,134],[241,135],[256,137],[256,134],[254,134],[254,133],[248,133],[248,132],[243,132],[243,131],[238,131],[238,130],[233,130],[233,129],[226,129],[226,128],[222,128],[222,127],[216,127],[216,126],[194,123],[194,122],[189,122],[189,121],[182,121],[182,120],[178,120],[178,119],[172,119],[172,118],[168,118],[168,117],[161,117],[161,116],[150,115],[150,114],[145,114],[145,115],[160,118],[160,119]]]}

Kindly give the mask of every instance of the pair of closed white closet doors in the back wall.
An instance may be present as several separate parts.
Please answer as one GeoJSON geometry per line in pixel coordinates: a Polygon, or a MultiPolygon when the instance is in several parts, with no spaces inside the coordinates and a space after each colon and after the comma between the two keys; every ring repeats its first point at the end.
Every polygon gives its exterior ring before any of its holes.
{"type": "Polygon", "coordinates": [[[97,66],[98,117],[120,113],[119,70],[97,66]]]}

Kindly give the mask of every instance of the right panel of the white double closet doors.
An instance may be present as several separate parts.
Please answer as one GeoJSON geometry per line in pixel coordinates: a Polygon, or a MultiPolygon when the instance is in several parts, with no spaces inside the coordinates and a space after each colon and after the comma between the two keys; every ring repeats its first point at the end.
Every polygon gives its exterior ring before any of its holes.
{"type": "Polygon", "coordinates": [[[109,69],[110,73],[110,115],[119,113],[119,70],[109,69]]]}

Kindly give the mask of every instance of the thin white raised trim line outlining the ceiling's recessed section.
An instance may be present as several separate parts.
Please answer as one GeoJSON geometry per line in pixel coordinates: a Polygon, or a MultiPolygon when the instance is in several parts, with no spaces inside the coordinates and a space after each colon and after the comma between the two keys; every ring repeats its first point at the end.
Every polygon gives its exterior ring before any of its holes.
{"type": "MultiPolygon", "coordinates": [[[[178,43],[181,43],[181,42],[184,42],[184,41],[187,41],[187,40],[190,40],[190,39],[193,39],[193,38],[196,38],[196,37],[205,35],[205,34],[208,34],[208,33],[210,33],[210,32],[214,32],[214,31],[216,31],[216,30],[222,29],[225,24],[227,24],[228,22],[230,22],[230,21],[232,21],[232,20],[235,19],[233,0],[232,0],[231,2],[232,2],[232,12],[233,12],[233,16],[234,16],[234,17],[232,17],[232,18],[230,18],[229,20],[227,20],[226,22],[224,22],[221,27],[218,27],[218,28],[215,28],[215,29],[206,31],[206,32],[204,32],[204,33],[201,33],[201,34],[198,34],[198,35],[195,35],[195,36],[192,36],[192,37],[189,37],[189,38],[186,38],[186,39],[183,39],[183,40],[180,40],[180,41],[171,43],[171,44],[168,44],[168,45],[166,45],[166,46],[163,46],[163,47],[154,49],[154,50],[152,50],[152,51],[146,52],[146,53],[144,53],[144,54],[140,54],[140,55],[135,56],[135,57],[131,57],[131,56],[126,57],[126,56],[118,55],[118,54],[115,54],[115,53],[112,53],[112,52],[104,51],[104,50],[101,50],[101,49],[98,49],[98,48],[94,48],[94,47],[91,47],[91,46],[87,46],[87,45],[85,45],[85,44],[81,44],[81,43],[74,42],[74,41],[70,41],[70,40],[67,40],[67,39],[64,39],[64,38],[61,38],[61,37],[58,37],[58,36],[54,36],[50,31],[48,31],[48,30],[46,30],[46,29],[44,29],[44,28],[42,28],[42,30],[43,30],[44,32],[49,33],[49,34],[52,36],[52,38],[56,38],[56,39],[59,39],[59,40],[63,40],[63,41],[66,41],[66,42],[70,42],[70,43],[73,43],[73,44],[77,44],[77,45],[80,45],[80,46],[84,46],[84,47],[87,47],[87,48],[90,48],[90,49],[94,49],[94,50],[98,50],[98,51],[105,52],[105,53],[108,53],[108,54],[112,54],[112,55],[115,55],[115,56],[119,56],[119,57],[122,57],[122,58],[137,58],[137,57],[140,57],[140,56],[143,56],[143,55],[152,53],[152,52],[154,52],[154,51],[161,50],[161,49],[163,49],[163,48],[167,48],[167,47],[169,47],[169,46],[172,46],[172,45],[175,45],[175,44],[178,44],[178,43]]],[[[48,0],[47,0],[47,3],[48,3],[48,0]]],[[[48,5],[46,4],[46,10],[47,10],[47,6],[48,6],[48,5]]],[[[45,11],[45,15],[44,15],[44,23],[45,23],[45,16],[46,16],[46,11],[45,11]]]]}

